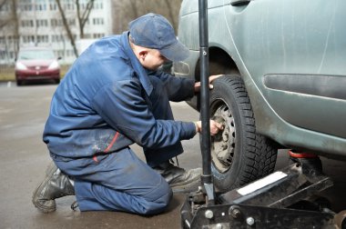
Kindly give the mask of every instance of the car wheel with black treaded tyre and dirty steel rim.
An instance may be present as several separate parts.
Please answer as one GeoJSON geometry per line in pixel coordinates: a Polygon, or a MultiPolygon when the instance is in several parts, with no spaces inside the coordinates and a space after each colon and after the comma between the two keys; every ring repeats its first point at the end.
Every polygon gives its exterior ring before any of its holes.
{"type": "Polygon", "coordinates": [[[273,172],[278,149],[257,134],[249,96],[239,75],[223,75],[210,91],[210,116],[224,124],[211,137],[211,171],[218,192],[227,192],[273,172]]]}

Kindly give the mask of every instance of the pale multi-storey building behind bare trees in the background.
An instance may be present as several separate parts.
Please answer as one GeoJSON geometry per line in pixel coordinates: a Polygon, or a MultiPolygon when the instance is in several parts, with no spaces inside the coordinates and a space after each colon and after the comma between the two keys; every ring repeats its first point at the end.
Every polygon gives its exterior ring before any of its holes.
{"type": "MultiPolygon", "coordinates": [[[[76,16],[74,0],[60,0],[67,23],[76,44],[80,39],[79,25],[76,16]]],[[[90,0],[79,0],[81,12],[90,0]]],[[[10,1],[8,1],[10,2],[10,1]]],[[[112,16],[110,0],[95,0],[94,7],[84,28],[85,38],[97,39],[112,33],[112,16]]],[[[56,56],[61,56],[61,64],[71,64],[76,59],[73,47],[66,35],[62,17],[56,5],[56,0],[17,0],[17,18],[19,31],[19,47],[28,45],[51,46],[56,56]]],[[[10,5],[0,10],[0,18],[11,15],[10,5]]],[[[15,60],[16,43],[14,22],[8,23],[0,30],[0,64],[13,64],[15,60]]]]}

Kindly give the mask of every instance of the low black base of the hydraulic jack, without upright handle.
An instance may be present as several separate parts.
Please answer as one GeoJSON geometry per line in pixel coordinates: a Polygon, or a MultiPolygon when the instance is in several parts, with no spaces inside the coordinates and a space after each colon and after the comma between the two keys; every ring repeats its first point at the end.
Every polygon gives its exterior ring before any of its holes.
{"type": "Polygon", "coordinates": [[[345,212],[333,213],[318,197],[331,187],[320,158],[296,163],[246,186],[219,194],[213,204],[202,190],[181,208],[182,228],[345,228],[345,212]]]}

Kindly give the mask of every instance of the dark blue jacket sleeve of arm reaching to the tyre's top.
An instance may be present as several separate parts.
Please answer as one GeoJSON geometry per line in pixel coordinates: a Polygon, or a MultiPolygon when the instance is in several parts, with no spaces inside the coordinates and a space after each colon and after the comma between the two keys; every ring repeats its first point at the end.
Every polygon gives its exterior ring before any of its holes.
{"type": "Polygon", "coordinates": [[[195,80],[169,75],[164,72],[157,72],[156,75],[166,88],[170,101],[185,101],[195,95],[195,80]]]}

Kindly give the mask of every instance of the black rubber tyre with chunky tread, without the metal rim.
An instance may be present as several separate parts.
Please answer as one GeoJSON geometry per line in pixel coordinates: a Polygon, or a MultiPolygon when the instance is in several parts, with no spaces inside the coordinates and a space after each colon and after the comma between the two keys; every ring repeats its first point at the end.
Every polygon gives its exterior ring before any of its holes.
{"type": "Polygon", "coordinates": [[[226,192],[272,173],[276,163],[277,149],[273,147],[267,137],[256,133],[255,117],[249,95],[240,76],[224,75],[219,77],[215,84],[229,87],[228,90],[239,109],[241,129],[243,130],[241,138],[242,142],[245,143],[241,150],[240,169],[235,171],[237,177],[227,176],[226,179],[219,181],[217,178],[219,176],[214,175],[217,189],[226,192]]]}

